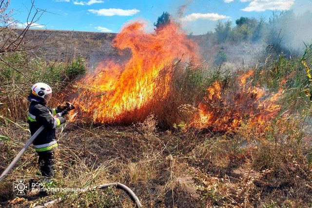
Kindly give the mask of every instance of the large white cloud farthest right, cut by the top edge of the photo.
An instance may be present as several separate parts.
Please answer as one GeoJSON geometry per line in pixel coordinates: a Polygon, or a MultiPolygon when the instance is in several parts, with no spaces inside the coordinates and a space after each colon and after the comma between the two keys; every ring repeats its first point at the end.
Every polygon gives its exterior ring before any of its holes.
{"type": "MultiPolygon", "coordinates": [[[[247,0],[241,0],[246,2],[247,0]]],[[[248,7],[242,9],[245,12],[263,12],[265,10],[290,10],[295,0],[253,0],[248,7]]]]}

